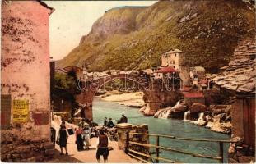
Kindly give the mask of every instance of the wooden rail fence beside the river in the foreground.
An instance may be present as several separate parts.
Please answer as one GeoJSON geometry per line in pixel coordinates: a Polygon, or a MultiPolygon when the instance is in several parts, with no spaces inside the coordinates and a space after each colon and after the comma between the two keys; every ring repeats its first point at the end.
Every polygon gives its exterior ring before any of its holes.
{"type": "Polygon", "coordinates": [[[169,152],[176,152],[176,153],[184,153],[184,154],[189,154],[193,157],[202,157],[202,158],[210,158],[210,159],[215,159],[218,160],[219,162],[223,163],[224,160],[224,156],[223,156],[223,144],[224,143],[231,143],[230,140],[216,140],[216,139],[189,139],[189,138],[182,138],[182,137],[175,137],[175,136],[171,136],[171,135],[161,135],[161,134],[142,134],[142,133],[127,133],[127,149],[126,152],[128,153],[128,155],[137,158],[138,160],[141,160],[142,162],[148,162],[147,160],[143,159],[142,157],[147,157],[149,159],[155,159],[156,162],[158,163],[159,161],[163,161],[163,162],[171,162],[171,163],[176,163],[177,161],[172,160],[172,159],[168,159],[165,157],[159,157],[159,153],[160,150],[165,150],[165,151],[169,151],[169,152]],[[142,143],[137,143],[137,142],[133,142],[129,140],[129,135],[130,134],[136,134],[136,135],[148,135],[148,136],[153,136],[156,137],[156,144],[142,144],[142,143]],[[219,144],[219,155],[216,156],[208,156],[208,155],[204,155],[204,154],[200,154],[200,153],[191,153],[191,152],[187,152],[184,150],[179,150],[179,149],[175,149],[175,148],[168,148],[168,147],[163,147],[159,145],[159,140],[160,138],[166,138],[166,139],[178,139],[178,140],[186,140],[186,141],[198,141],[198,142],[216,142],[219,144]],[[156,157],[155,156],[151,156],[150,154],[145,154],[145,153],[140,153],[137,152],[131,148],[129,148],[130,144],[134,144],[137,146],[142,146],[142,147],[147,147],[147,148],[156,148],[156,157]]]}

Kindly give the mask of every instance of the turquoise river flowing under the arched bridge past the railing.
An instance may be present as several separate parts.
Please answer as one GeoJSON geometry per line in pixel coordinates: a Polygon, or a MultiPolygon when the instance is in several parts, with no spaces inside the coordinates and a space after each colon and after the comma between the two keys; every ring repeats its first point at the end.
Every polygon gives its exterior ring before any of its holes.
{"type": "MultiPolygon", "coordinates": [[[[128,123],[131,124],[147,124],[149,127],[149,133],[153,134],[168,134],[176,137],[195,138],[195,139],[230,139],[230,135],[220,134],[213,132],[204,127],[193,125],[189,122],[183,122],[174,119],[157,119],[151,116],[143,116],[138,112],[137,108],[125,107],[118,103],[100,101],[99,99],[93,102],[93,119],[100,125],[103,124],[104,117],[111,117],[114,120],[119,120],[121,113],[124,112],[128,117],[128,123]]],[[[151,137],[150,143],[154,144],[156,138],[151,137]]],[[[218,156],[218,143],[209,142],[194,142],[194,141],[182,141],[175,139],[162,139],[160,138],[160,145],[170,148],[176,148],[192,153],[201,153],[204,155],[218,156]]],[[[224,144],[225,160],[227,162],[227,149],[228,144],[224,144]]],[[[197,163],[212,163],[218,162],[217,160],[193,157],[190,155],[162,151],[160,157],[166,157],[178,162],[197,162],[197,163]]]]}

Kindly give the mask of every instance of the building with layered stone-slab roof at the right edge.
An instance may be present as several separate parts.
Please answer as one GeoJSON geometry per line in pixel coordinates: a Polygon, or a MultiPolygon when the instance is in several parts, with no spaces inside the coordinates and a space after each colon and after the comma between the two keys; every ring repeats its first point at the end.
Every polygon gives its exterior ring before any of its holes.
{"type": "Polygon", "coordinates": [[[233,101],[232,141],[229,162],[255,162],[255,39],[244,39],[235,48],[228,66],[214,79],[233,101]]]}

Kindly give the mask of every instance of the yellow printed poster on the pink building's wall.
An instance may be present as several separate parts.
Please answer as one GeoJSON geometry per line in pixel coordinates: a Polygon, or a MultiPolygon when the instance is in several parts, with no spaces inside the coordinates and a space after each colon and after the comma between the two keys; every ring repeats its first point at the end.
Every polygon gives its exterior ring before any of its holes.
{"type": "Polygon", "coordinates": [[[12,116],[13,122],[26,122],[29,115],[29,100],[13,100],[12,116]]]}

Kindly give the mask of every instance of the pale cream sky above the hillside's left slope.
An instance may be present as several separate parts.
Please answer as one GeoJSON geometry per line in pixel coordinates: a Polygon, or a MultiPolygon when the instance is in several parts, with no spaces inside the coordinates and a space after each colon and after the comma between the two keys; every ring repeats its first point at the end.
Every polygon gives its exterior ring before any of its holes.
{"type": "Polygon", "coordinates": [[[49,16],[50,57],[67,56],[105,11],[120,6],[151,6],[156,1],[44,1],[55,11],[49,16]]]}

